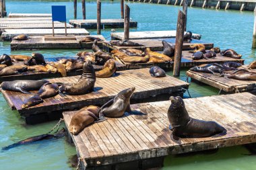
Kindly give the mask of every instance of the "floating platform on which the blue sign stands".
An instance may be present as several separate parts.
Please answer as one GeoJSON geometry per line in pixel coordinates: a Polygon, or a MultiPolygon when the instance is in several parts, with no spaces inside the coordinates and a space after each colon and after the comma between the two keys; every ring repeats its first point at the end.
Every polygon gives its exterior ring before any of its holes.
{"type": "MultiPolygon", "coordinates": [[[[93,42],[82,42],[79,40],[86,36],[31,36],[30,39],[24,41],[12,40],[11,50],[32,50],[32,49],[55,49],[55,48],[90,48],[93,42]],[[54,39],[55,38],[55,39],[54,39]]],[[[103,36],[92,36],[105,40],[103,36]]],[[[102,48],[102,42],[98,42],[98,46],[102,48]]]]}

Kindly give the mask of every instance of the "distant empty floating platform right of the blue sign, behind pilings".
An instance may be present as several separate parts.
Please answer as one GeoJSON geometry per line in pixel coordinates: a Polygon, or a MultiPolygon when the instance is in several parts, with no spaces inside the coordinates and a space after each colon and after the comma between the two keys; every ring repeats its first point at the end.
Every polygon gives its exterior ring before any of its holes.
{"type": "MultiPolygon", "coordinates": [[[[124,28],[125,19],[100,19],[100,28],[124,28]]],[[[96,29],[97,19],[71,19],[75,28],[96,29]]],[[[130,28],[137,28],[137,22],[130,20],[130,28]]]]}

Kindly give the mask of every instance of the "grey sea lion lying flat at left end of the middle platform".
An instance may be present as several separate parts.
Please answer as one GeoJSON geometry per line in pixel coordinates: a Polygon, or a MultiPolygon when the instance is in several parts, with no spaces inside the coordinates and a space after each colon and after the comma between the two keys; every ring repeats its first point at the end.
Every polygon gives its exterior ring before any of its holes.
{"type": "Polygon", "coordinates": [[[44,83],[49,83],[47,80],[15,80],[3,81],[1,88],[3,90],[18,91],[26,94],[31,94],[29,91],[38,90],[44,83]]]}

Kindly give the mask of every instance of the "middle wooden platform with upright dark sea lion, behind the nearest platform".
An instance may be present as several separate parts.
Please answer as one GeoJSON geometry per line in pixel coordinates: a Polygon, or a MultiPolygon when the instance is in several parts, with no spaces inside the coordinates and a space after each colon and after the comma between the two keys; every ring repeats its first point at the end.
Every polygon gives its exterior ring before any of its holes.
{"type": "MultiPolygon", "coordinates": [[[[79,76],[75,76],[49,79],[49,81],[75,83],[78,79],[79,76]]],[[[86,105],[103,105],[117,93],[129,87],[136,88],[133,97],[131,97],[131,102],[138,103],[148,100],[168,99],[170,95],[183,96],[184,89],[189,88],[189,83],[170,76],[162,78],[151,77],[149,69],[120,71],[115,77],[97,78],[92,93],[66,95],[65,97],[56,95],[55,97],[44,99],[44,103],[27,109],[22,109],[21,106],[30,95],[4,90],[1,93],[9,107],[13,110],[18,110],[25,117],[27,124],[36,124],[60,118],[63,111],[80,109],[86,105]]]]}

